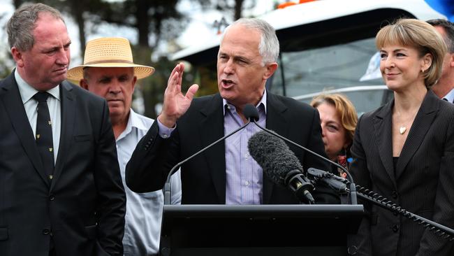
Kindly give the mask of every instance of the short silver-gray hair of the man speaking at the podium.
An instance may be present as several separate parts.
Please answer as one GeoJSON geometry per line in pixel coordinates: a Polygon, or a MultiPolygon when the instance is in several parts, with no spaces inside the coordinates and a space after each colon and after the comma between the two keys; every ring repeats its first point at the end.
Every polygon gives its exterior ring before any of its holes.
{"type": "Polygon", "coordinates": [[[228,29],[237,24],[240,24],[249,29],[255,29],[260,32],[260,44],[258,45],[258,53],[262,56],[262,64],[277,62],[279,57],[279,40],[277,40],[276,31],[268,22],[257,18],[241,18],[236,20],[233,24],[226,27],[221,41],[224,39],[228,29]]]}

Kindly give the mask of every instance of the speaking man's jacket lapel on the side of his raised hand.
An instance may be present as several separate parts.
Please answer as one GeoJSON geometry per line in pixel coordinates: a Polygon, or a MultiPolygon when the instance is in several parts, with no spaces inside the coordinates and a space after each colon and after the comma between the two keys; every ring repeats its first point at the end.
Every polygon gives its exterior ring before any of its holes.
{"type": "MultiPolygon", "coordinates": [[[[200,139],[202,147],[210,145],[224,136],[224,115],[222,109],[222,98],[219,94],[214,95],[200,110],[203,116],[200,125],[200,139]],[[214,127],[214,129],[213,129],[214,127]]],[[[216,189],[219,204],[226,204],[226,148],[225,141],[214,145],[210,150],[204,152],[211,176],[216,189]]]]}

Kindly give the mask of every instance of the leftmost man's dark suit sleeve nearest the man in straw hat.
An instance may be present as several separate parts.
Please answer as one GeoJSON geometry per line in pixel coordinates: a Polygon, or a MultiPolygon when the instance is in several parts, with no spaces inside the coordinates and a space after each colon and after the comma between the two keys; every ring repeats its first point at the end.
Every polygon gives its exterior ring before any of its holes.
{"type": "Polygon", "coordinates": [[[96,141],[94,180],[98,199],[96,219],[98,222],[98,243],[101,246],[97,255],[123,255],[122,239],[126,195],[119,171],[115,136],[108,115],[108,106],[103,102],[101,130],[96,141]]]}

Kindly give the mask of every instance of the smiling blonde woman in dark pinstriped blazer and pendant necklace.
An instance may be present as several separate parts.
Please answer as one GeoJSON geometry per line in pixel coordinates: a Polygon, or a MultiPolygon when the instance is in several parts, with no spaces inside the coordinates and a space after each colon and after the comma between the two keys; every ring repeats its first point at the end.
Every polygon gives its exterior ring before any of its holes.
{"type": "MultiPolygon", "coordinates": [[[[426,22],[402,19],[376,35],[383,80],[394,100],[358,120],[351,173],[402,208],[454,227],[454,105],[430,90],[446,45],[426,22]]],[[[367,217],[349,238],[355,255],[454,255],[422,225],[365,202],[367,217]]]]}

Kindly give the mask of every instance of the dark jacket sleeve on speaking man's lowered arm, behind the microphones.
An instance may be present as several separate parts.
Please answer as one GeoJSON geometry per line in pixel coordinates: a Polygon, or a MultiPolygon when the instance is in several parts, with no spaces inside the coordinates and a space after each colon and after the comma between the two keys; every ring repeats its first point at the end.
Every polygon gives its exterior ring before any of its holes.
{"type": "MultiPolygon", "coordinates": [[[[325,147],[323,145],[323,141],[321,139],[321,125],[320,125],[320,116],[318,115],[318,111],[314,109],[312,115],[312,127],[310,128],[311,131],[309,133],[309,140],[307,145],[312,149],[312,151],[316,152],[318,155],[322,155],[326,157],[325,154],[325,147]]],[[[310,167],[321,169],[325,171],[330,171],[330,164],[325,160],[321,159],[320,157],[316,157],[311,153],[305,153],[305,160],[303,163],[305,169],[309,169],[310,167]]],[[[314,192],[312,192],[314,196],[316,204],[340,204],[339,194],[332,190],[332,188],[324,185],[323,183],[316,184],[314,192]]]]}

